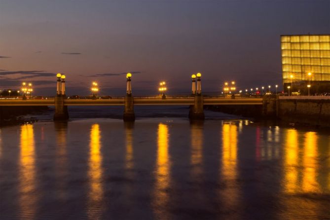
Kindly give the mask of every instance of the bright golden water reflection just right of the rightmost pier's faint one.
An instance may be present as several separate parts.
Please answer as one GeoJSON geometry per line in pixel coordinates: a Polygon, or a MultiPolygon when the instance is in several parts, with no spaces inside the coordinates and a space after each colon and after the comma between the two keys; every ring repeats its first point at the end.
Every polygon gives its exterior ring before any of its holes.
{"type": "Polygon", "coordinates": [[[237,183],[237,126],[232,123],[222,125],[222,165],[221,179],[226,187],[220,196],[224,204],[233,207],[238,203],[239,185],[237,183]]]}

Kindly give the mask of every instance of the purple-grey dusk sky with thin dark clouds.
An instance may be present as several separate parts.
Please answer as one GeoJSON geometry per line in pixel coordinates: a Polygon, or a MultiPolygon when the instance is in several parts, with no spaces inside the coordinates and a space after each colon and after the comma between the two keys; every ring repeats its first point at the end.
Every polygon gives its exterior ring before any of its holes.
{"type": "Polygon", "coordinates": [[[329,34],[330,0],[0,0],[0,89],[33,82],[55,95],[55,73],[68,95],[202,92],[224,81],[240,89],[282,84],[280,35],[329,34]]]}

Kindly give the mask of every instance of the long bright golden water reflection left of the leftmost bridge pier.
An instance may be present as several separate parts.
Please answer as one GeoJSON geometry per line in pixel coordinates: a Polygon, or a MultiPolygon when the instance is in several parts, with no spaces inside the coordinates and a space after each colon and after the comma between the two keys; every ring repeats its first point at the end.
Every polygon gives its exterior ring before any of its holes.
{"type": "Polygon", "coordinates": [[[22,219],[34,219],[36,213],[36,155],[32,124],[21,126],[19,207],[22,219]]]}

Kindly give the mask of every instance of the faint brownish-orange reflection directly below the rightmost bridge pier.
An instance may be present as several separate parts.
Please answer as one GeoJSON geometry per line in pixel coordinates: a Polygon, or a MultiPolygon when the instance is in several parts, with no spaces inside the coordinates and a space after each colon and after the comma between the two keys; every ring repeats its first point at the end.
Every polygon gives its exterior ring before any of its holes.
{"type": "Polygon", "coordinates": [[[199,175],[202,173],[203,162],[203,128],[196,123],[191,124],[190,129],[191,139],[191,157],[190,164],[192,165],[193,180],[199,180],[199,175]]]}

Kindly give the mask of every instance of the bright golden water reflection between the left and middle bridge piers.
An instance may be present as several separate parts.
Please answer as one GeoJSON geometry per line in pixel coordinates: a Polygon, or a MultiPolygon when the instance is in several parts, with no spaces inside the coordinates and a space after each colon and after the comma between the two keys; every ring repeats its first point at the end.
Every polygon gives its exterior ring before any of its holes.
{"type": "Polygon", "coordinates": [[[103,184],[102,184],[102,155],[101,131],[99,124],[93,124],[90,130],[90,151],[88,177],[90,189],[88,192],[88,217],[99,219],[102,210],[103,184]]]}

